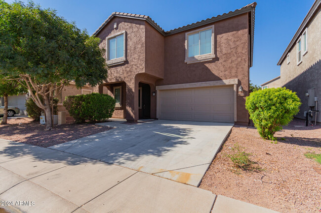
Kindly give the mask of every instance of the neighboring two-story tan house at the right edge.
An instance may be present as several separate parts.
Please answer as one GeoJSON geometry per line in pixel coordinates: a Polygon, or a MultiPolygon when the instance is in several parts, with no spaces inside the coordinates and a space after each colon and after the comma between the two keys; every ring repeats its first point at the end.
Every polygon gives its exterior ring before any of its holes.
{"type": "MultiPolygon", "coordinates": [[[[321,110],[320,10],[321,0],[316,0],[278,62],[281,87],[295,91],[301,99],[300,112],[296,115],[301,119],[305,119],[304,111],[321,110]]],[[[320,113],[317,121],[321,122],[320,113]]]]}

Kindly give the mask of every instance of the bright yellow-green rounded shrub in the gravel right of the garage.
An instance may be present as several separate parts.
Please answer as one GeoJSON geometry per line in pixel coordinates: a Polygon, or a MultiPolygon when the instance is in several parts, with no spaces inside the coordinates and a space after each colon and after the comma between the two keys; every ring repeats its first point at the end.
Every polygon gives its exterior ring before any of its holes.
{"type": "Polygon", "coordinates": [[[292,121],[301,105],[296,92],[286,88],[271,88],[251,92],[245,107],[262,138],[276,140],[275,132],[292,121]]]}

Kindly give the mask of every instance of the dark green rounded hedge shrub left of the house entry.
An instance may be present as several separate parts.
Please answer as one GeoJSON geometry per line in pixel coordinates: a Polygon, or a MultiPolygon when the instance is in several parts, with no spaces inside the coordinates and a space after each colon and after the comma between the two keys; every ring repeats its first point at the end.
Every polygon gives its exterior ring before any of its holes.
{"type": "Polygon", "coordinates": [[[67,96],[64,106],[76,122],[102,121],[112,117],[116,100],[108,94],[91,93],[67,96]]]}

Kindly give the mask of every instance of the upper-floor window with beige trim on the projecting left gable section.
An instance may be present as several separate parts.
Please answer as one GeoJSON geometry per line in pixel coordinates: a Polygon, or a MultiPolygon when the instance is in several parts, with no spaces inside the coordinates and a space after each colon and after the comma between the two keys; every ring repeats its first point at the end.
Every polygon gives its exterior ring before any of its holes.
{"type": "Polygon", "coordinates": [[[126,61],[125,44],[125,31],[107,37],[107,65],[116,65],[126,61]]]}

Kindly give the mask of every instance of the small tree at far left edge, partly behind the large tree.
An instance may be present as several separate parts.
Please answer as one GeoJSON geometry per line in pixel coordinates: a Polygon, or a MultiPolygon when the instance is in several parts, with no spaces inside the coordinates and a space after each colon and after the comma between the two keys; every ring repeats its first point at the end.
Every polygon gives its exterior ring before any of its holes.
{"type": "Polygon", "coordinates": [[[12,76],[0,75],[0,96],[4,99],[3,119],[1,124],[7,124],[8,118],[8,95],[18,95],[23,92],[27,92],[18,81],[8,80],[12,76]]]}

